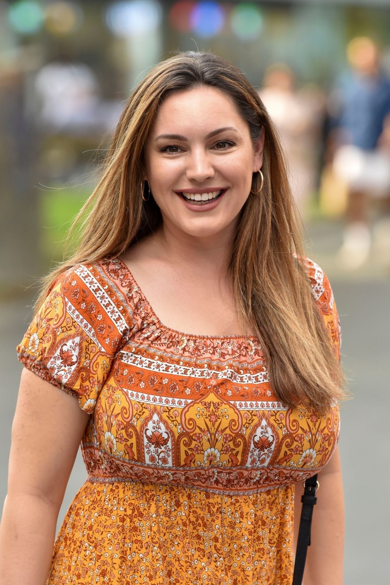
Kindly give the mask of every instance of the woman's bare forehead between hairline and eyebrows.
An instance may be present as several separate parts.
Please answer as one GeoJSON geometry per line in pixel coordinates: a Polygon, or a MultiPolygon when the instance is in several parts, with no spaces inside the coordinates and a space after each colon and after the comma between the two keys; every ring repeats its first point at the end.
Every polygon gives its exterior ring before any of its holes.
{"type": "Polygon", "coordinates": [[[245,121],[239,115],[234,101],[214,87],[203,86],[170,94],[159,107],[152,128],[153,133],[178,127],[214,129],[235,126],[243,130],[245,121]],[[211,128],[211,126],[213,128],[211,128]]]}

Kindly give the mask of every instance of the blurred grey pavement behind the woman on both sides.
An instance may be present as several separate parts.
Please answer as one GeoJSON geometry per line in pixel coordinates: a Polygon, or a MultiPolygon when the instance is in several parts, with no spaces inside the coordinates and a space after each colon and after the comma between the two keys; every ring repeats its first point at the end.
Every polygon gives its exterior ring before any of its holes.
{"type": "MultiPolygon", "coordinates": [[[[356,273],[337,268],[333,254],[341,233],[336,223],[312,223],[308,235],[312,239],[308,256],[320,264],[332,284],[342,325],[342,363],[353,394],[353,400],[342,408],[339,442],[346,505],[344,585],[374,585],[383,583],[388,573],[385,567],[390,525],[386,497],[390,477],[386,451],[386,417],[390,410],[390,273],[375,258],[356,273]]],[[[29,325],[31,315],[27,305],[31,303],[32,296],[3,302],[0,307],[4,369],[0,394],[3,429],[0,505],[6,495],[11,425],[22,371],[16,345],[29,325]]],[[[32,438],[31,448],[41,448],[39,441],[32,438]]],[[[79,450],[58,515],[57,531],[85,479],[79,450]]],[[[318,497],[321,498],[321,489],[318,497]]]]}

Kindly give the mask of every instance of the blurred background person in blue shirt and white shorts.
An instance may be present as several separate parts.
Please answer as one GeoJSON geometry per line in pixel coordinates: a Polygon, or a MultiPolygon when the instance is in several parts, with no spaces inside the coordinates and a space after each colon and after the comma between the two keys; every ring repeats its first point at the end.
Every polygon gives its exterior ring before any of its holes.
{"type": "MultiPolygon", "coordinates": [[[[357,269],[371,249],[369,205],[382,200],[390,210],[390,80],[381,70],[379,51],[368,37],[356,37],[347,46],[351,70],[337,80],[329,97],[331,134],[335,143],[333,169],[348,188],[343,245],[339,263],[357,269]]],[[[375,239],[390,259],[390,219],[377,222],[375,239]]]]}

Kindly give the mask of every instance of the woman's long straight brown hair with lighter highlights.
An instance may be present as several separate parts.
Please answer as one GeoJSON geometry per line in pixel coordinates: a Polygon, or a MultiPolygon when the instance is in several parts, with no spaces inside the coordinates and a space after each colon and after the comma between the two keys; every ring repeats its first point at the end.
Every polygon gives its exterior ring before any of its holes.
{"type": "MultiPolygon", "coordinates": [[[[70,235],[80,224],[76,250],[41,279],[34,309],[44,302],[50,284],[62,271],[118,257],[161,225],[154,199],[144,202],[141,197],[145,142],[169,94],[204,85],[234,100],[248,122],[253,143],[262,126],[266,132],[264,186],[261,196],[250,195],[242,207],[229,264],[239,321],[243,331],[249,324],[256,332],[279,400],[325,412],[346,395],[346,377],[312,294],[284,150],[256,90],[241,71],[214,54],[176,54],[152,68],[135,88],[117,123],[102,177],[69,230],[70,235]]],[[[253,191],[259,189],[258,177],[259,173],[253,175],[253,191]]]]}

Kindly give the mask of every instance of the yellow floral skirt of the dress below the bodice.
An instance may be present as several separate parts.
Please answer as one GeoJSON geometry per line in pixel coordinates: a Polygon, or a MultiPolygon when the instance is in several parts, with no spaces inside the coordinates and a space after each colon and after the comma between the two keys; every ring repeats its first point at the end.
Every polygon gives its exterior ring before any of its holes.
{"type": "Polygon", "coordinates": [[[90,478],[46,585],[279,585],[293,579],[294,486],[250,495],[90,478]]]}

